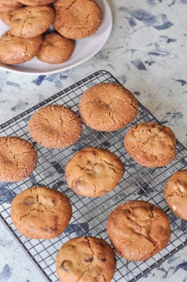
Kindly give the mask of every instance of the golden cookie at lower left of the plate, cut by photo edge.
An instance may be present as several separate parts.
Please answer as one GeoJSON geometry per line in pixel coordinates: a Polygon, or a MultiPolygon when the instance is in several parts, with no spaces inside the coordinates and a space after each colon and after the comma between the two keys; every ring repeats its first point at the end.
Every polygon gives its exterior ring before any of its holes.
{"type": "Polygon", "coordinates": [[[0,38],[0,61],[4,64],[20,64],[29,61],[40,51],[43,37],[15,37],[8,31],[0,38]]]}

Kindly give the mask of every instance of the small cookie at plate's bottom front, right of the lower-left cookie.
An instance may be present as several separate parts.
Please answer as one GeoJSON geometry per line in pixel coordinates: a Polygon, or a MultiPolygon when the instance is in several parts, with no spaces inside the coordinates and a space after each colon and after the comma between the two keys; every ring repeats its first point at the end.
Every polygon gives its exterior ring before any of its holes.
{"type": "Polygon", "coordinates": [[[61,64],[70,59],[75,42],[58,33],[47,33],[37,59],[49,64],[61,64]]]}

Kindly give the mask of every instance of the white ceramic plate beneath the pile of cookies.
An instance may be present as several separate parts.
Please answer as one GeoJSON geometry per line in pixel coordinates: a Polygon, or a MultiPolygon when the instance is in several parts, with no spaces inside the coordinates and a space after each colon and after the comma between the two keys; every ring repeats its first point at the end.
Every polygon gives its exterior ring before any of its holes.
{"type": "MultiPolygon", "coordinates": [[[[76,47],[71,56],[71,59],[63,64],[46,64],[39,61],[36,57],[30,61],[26,61],[23,64],[17,65],[6,65],[0,62],[0,69],[5,71],[12,71],[20,74],[54,74],[58,71],[65,71],[67,69],[73,68],[73,66],[78,66],[78,64],[87,61],[93,57],[100,49],[104,46],[109,38],[112,27],[112,16],[109,4],[107,0],[97,0],[97,3],[102,8],[103,21],[102,25],[97,30],[95,35],[91,37],[76,40],[76,47]]],[[[8,26],[2,23],[0,20],[0,36],[8,30],[8,26]]]]}

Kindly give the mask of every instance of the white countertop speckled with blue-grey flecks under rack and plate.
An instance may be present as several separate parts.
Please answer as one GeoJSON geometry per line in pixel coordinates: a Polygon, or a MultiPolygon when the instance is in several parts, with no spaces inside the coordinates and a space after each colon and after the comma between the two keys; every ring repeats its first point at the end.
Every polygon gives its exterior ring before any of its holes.
{"type": "MultiPolygon", "coordinates": [[[[0,70],[0,123],[106,69],[187,146],[187,1],[109,0],[114,26],[92,59],[65,72],[24,76],[0,70]]],[[[187,281],[187,248],[140,281],[187,281]]],[[[44,279],[0,223],[0,281],[44,279]]]]}

